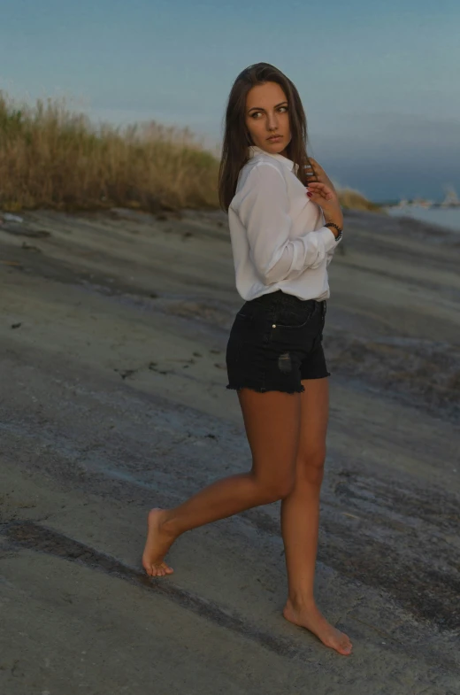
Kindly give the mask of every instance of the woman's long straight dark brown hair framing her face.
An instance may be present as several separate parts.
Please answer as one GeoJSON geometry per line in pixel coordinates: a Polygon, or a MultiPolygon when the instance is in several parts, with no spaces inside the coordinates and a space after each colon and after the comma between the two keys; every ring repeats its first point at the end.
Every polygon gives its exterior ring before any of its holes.
{"type": "Polygon", "coordinates": [[[238,75],[230,90],[226,105],[225,135],[219,166],[219,203],[225,212],[234,197],[238,174],[248,161],[251,141],[246,127],[246,97],[249,89],[265,82],[277,82],[288,99],[291,141],[286,148],[289,159],[299,165],[297,178],[307,185],[305,166],[310,164],[307,156],[307,119],[295,84],[270,63],[256,63],[246,67],[238,75]]]}

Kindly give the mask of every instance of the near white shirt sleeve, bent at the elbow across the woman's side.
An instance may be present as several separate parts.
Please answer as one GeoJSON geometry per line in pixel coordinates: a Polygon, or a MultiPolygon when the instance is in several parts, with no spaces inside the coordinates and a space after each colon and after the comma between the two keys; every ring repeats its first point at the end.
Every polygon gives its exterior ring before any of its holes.
{"type": "Polygon", "coordinates": [[[328,227],[289,239],[288,210],[288,189],[278,169],[265,162],[254,166],[243,184],[237,212],[248,235],[249,258],[265,285],[318,267],[336,243],[328,227]]]}

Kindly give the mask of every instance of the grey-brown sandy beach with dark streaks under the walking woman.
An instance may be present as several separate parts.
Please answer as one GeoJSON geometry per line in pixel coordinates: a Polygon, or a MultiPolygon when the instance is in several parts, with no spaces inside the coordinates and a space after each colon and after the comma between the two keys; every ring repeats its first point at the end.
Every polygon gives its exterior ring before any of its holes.
{"type": "Polygon", "coordinates": [[[20,216],[0,224],[2,695],[460,693],[460,235],[346,212],[330,266],[317,599],[345,658],[281,615],[278,504],[142,571],[150,506],[250,466],[226,215],[20,216]]]}

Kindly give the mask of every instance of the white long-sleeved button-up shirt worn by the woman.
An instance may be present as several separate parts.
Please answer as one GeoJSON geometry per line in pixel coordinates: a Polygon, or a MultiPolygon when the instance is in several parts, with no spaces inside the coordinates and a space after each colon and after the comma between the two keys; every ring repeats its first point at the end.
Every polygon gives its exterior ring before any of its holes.
{"type": "Polygon", "coordinates": [[[326,299],[326,267],[340,243],[296,177],[298,165],[256,145],[228,208],[236,290],[245,300],[283,290],[326,299]]]}

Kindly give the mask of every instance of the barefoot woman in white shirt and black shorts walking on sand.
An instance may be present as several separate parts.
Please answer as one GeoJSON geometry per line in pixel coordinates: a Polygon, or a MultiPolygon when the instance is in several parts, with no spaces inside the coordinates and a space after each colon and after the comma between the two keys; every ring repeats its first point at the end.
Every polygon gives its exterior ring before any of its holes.
{"type": "Polygon", "coordinates": [[[242,407],[252,468],[173,509],[150,510],[142,564],[150,576],[169,575],[165,554],[180,534],[281,500],[283,615],[349,654],[349,637],[326,621],[313,595],[330,375],[322,347],[326,266],[343,216],[331,181],[307,158],[306,137],[300,97],[283,73],[258,63],[238,75],[226,108],[219,197],[245,300],[227,344],[226,388],[242,407]]]}

